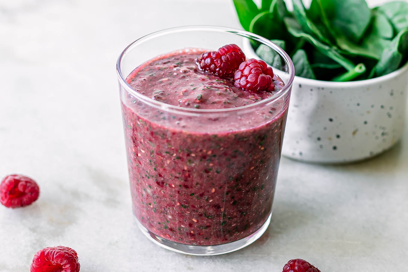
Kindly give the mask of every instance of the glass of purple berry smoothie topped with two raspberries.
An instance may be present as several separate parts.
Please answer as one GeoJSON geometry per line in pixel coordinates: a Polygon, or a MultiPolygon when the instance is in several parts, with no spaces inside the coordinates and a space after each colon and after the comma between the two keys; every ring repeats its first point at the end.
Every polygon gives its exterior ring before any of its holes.
{"type": "Polygon", "coordinates": [[[182,27],[133,42],[117,69],[142,232],[195,255],[258,239],[271,218],[293,81],[286,53],[245,31],[182,27]],[[246,60],[243,39],[276,51],[282,69],[246,60]]]}

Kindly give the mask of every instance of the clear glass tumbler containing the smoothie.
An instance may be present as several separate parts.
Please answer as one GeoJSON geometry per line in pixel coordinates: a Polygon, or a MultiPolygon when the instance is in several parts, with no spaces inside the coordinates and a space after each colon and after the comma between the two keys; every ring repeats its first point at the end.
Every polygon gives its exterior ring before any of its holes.
{"type": "MultiPolygon", "coordinates": [[[[244,52],[245,53],[245,52],[244,52]]],[[[160,246],[193,255],[243,248],[266,231],[286,124],[293,63],[260,36],[223,27],[179,27],[146,35],[117,63],[133,212],[160,246]],[[180,50],[260,43],[282,59],[284,87],[236,108],[182,108],[134,90],[126,77],[142,63],[180,50]]]]}

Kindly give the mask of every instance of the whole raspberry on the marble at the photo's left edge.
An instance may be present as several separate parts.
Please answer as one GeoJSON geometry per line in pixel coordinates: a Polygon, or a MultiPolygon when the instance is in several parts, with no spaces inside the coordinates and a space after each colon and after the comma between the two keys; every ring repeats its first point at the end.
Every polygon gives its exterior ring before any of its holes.
{"type": "Polygon", "coordinates": [[[0,184],[0,202],[7,208],[28,206],[38,199],[37,183],[23,175],[8,175],[0,184]]]}

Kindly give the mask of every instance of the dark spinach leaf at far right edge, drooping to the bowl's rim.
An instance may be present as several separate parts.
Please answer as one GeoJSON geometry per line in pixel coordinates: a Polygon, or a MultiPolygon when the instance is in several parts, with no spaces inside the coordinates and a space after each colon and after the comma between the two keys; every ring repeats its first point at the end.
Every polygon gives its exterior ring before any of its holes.
{"type": "Polygon", "coordinates": [[[371,71],[369,78],[386,75],[395,71],[408,56],[408,28],[401,30],[384,49],[381,59],[371,71]]]}

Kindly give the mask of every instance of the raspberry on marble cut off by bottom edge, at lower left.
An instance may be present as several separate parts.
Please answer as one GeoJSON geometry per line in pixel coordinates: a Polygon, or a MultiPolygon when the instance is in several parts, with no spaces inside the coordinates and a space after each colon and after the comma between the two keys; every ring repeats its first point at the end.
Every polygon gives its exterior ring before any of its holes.
{"type": "Polygon", "coordinates": [[[35,253],[30,272],[78,272],[78,255],[72,248],[57,246],[35,253]]]}

